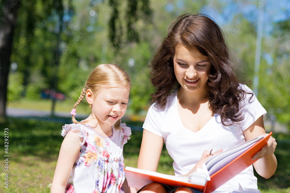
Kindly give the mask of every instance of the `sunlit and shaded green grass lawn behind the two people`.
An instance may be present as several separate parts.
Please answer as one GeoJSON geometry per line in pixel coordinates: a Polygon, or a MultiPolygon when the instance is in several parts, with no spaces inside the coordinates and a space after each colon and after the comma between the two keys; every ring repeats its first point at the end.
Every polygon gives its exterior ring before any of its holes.
{"type": "MultiPolygon", "coordinates": [[[[68,123],[70,120],[68,119],[68,123]]],[[[141,145],[142,122],[129,122],[132,128],[131,139],[124,146],[126,166],[137,166],[141,145]]],[[[4,188],[4,150],[0,152],[0,192],[50,192],[47,186],[52,182],[57,156],[63,140],[60,135],[62,123],[44,122],[41,120],[20,120],[9,118],[0,124],[1,147],[4,147],[4,128],[9,128],[9,189],[4,188]],[[42,127],[39,127],[41,125],[42,127]]],[[[277,140],[276,157],[278,168],[273,177],[263,179],[258,177],[258,187],[262,193],[290,192],[290,135],[273,134],[277,140]]],[[[4,149],[4,148],[3,148],[4,149]]],[[[162,151],[158,172],[174,174],[172,159],[167,151],[162,151]]]]}

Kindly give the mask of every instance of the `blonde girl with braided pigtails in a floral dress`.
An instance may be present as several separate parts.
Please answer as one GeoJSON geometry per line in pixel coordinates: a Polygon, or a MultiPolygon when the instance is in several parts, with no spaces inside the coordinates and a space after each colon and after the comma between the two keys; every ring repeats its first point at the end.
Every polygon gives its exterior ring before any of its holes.
{"type": "MultiPolygon", "coordinates": [[[[121,123],[129,100],[131,80],[115,64],[98,65],[86,81],[71,114],[73,124],[63,126],[51,192],[124,192],[123,146],[131,129],[121,123]],[[76,106],[86,100],[91,114],[75,120],[76,106]]],[[[125,181],[125,182],[124,182],[125,181]]]]}

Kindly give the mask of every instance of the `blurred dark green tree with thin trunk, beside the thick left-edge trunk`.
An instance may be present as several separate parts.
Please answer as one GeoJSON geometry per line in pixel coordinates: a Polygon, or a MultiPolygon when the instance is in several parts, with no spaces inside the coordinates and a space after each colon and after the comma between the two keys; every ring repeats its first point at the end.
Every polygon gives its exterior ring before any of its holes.
{"type": "MultiPolygon", "coordinates": [[[[35,85],[41,78],[46,84],[44,88],[57,91],[59,60],[63,55],[61,46],[70,37],[67,22],[73,15],[72,6],[70,2],[62,0],[21,3],[14,35],[15,49],[11,55],[17,64],[17,71],[23,74],[23,89],[18,96],[25,96],[28,90],[34,90],[34,95],[39,95],[43,88],[34,86],[32,89],[30,84],[35,85]],[[30,76],[31,73],[34,77],[30,76]]],[[[52,99],[54,114],[55,97],[52,99]]]]}

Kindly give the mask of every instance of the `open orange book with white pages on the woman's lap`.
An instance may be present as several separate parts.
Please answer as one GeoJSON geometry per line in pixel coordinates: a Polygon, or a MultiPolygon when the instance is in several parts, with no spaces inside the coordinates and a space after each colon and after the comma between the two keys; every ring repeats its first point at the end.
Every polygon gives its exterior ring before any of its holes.
{"type": "Polygon", "coordinates": [[[161,174],[126,166],[124,169],[126,179],[128,185],[134,188],[142,188],[149,183],[158,182],[171,186],[187,186],[211,193],[257,161],[252,159],[253,155],[267,143],[271,134],[272,132],[255,137],[213,156],[206,161],[203,169],[198,168],[190,177],[161,174]]]}

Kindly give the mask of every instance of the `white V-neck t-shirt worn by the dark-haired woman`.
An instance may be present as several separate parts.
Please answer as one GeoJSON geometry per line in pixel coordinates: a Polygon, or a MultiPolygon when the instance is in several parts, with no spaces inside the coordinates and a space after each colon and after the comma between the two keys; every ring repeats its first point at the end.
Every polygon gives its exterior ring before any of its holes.
{"type": "MultiPolygon", "coordinates": [[[[243,90],[252,92],[246,85],[240,86],[243,90]]],[[[249,103],[250,97],[247,94],[240,102],[243,121],[224,126],[220,115],[215,114],[201,130],[194,133],[182,125],[177,110],[177,91],[173,91],[167,98],[165,108],[158,108],[156,103],[149,108],[143,128],[164,138],[166,149],[174,161],[175,175],[184,175],[200,160],[204,150],[210,151],[213,148],[213,152],[220,149],[226,151],[246,141],[243,130],[267,113],[255,95],[249,103]]],[[[214,192],[260,192],[253,166],[249,166],[214,192]]]]}

